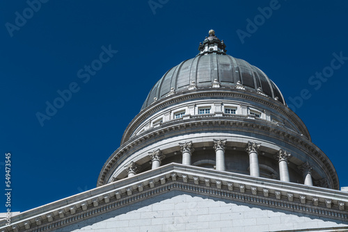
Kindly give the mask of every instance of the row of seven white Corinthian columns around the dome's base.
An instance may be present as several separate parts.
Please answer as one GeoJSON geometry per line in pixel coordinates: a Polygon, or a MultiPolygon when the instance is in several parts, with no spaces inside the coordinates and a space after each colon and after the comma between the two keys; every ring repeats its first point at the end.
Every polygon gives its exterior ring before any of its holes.
{"type": "MultiPolygon", "coordinates": [[[[213,140],[214,150],[216,155],[216,170],[225,171],[225,149],[226,149],[226,139],[213,140]]],[[[260,165],[258,161],[258,153],[260,149],[260,143],[248,141],[246,144],[245,150],[249,156],[249,167],[250,167],[250,175],[255,177],[260,177],[260,165]]],[[[183,165],[191,165],[191,155],[195,150],[193,147],[193,142],[180,142],[179,143],[180,150],[182,152],[182,164],[183,165]]],[[[162,153],[160,149],[155,151],[151,151],[148,154],[151,158],[150,163],[152,164],[152,169],[156,169],[161,165],[161,160],[163,160],[166,156],[162,153]]],[[[290,174],[288,160],[291,157],[287,151],[280,149],[274,158],[278,160],[279,165],[279,175],[280,181],[290,182],[290,174]]],[[[303,180],[305,185],[313,185],[312,180],[312,171],[313,167],[310,166],[308,162],[303,163],[303,165],[298,167],[303,172],[303,180]]],[[[125,170],[127,171],[128,177],[134,176],[137,172],[140,171],[140,166],[134,163],[133,161],[128,165],[125,165],[125,170]]]]}

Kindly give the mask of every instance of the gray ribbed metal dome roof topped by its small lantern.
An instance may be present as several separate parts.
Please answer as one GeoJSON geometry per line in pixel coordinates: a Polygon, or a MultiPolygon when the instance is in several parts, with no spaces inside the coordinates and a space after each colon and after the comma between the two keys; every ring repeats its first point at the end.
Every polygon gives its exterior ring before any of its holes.
{"type": "Polygon", "coordinates": [[[200,43],[200,54],[196,58],[172,67],[157,81],[141,110],[150,106],[154,99],[164,99],[170,92],[189,91],[193,81],[199,89],[212,88],[214,80],[224,88],[235,88],[236,85],[242,84],[245,90],[262,92],[285,104],[283,94],[264,72],[245,60],[226,55],[226,45],[222,44],[221,47],[221,42],[215,35],[205,38],[203,44],[200,43]]]}

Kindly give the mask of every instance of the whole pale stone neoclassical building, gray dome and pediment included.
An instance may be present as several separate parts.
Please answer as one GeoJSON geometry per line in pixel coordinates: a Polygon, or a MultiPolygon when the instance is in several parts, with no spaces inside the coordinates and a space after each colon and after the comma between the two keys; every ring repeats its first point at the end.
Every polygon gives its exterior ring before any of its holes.
{"type": "Polygon", "coordinates": [[[348,231],[348,192],[277,85],[213,30],[155,83],[97,188],[1,231],[348,231]]]}

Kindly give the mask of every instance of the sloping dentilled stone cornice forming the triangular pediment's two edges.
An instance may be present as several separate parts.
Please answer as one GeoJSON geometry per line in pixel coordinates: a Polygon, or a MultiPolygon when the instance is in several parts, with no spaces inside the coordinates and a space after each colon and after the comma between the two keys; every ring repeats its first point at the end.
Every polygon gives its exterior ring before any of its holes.
{"type": "Polygon", "coordinates": [[[348,193],[171,163],[55,201],[0,222],[0,231],[54,231],[136,202],[180,190],[233,202],[287,210],[348,224],[348,193]]]}

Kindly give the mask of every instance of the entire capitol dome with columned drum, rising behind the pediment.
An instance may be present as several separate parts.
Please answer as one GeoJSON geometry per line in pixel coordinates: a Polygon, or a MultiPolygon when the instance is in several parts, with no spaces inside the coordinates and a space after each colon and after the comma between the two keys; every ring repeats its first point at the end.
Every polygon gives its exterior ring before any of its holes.
{"type": "Polygon", "coordinates": [[[212,30],[198,50],[155,83],[98,186],[180,163],[339,188],[333,164],[264,72],[226,54],[212,30]]]}

